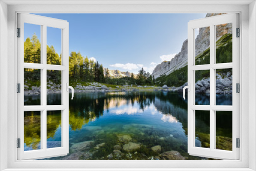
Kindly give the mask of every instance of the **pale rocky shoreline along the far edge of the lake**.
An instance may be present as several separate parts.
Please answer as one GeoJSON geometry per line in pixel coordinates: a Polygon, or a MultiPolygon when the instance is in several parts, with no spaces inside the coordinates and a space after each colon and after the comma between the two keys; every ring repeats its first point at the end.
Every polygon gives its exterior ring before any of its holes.
{"type": "MultiPolygon", "coordinates": [[[[116,86],[106,87],[105,85],[97,82],[89,83],[89,86],[82,86],[77,84],[74,87],[75,93],[83,92],[124,92],[124,91],[173,91],[177,93],[182,93],[183,88],[187,86],[187,82],[180,87],[154,87],[154,86],[116,86]]],[[[25,84],[25,95],[36,95],[40,94],[40,87],[30,87],[25,84]]],[[[195,84],[196,93],[209,93],[210,92],[210,78],[203,78],[195,84]]],[[[186,90],[187,91],[187,90],[186,90]]],[[[54,84],[51,82],[51,86],[48,86],[47,93],[61,93],[61,86],[59,84],[54,84]]],[[[71,90],[70,90],[71,93],[71,90]]],[[[231,94],[232,93],[232,75],[231,73],[216,74],[216,94],[231,94]]]]}

